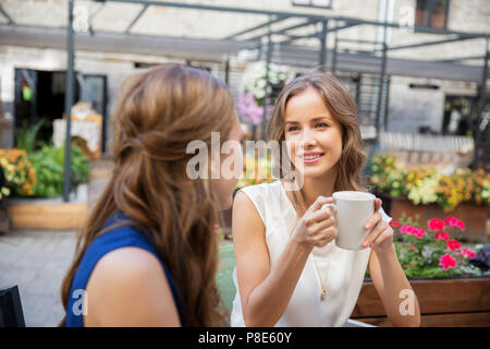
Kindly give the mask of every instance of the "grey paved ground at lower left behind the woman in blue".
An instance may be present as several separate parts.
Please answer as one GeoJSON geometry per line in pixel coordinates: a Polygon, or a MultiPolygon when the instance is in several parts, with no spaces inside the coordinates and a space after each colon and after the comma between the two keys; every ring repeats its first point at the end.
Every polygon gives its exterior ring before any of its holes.
{"type": "MultiPolygon", "coordinates": [[[[93,204],[107,184],[110,161],[94,161],[90,170],[88,200],[93,204]]],[[[57,326],[64,316],[60,288],[75,243],[75,231],[0,233],[0,288],[19,286],[26,326],[57,326]]]]}

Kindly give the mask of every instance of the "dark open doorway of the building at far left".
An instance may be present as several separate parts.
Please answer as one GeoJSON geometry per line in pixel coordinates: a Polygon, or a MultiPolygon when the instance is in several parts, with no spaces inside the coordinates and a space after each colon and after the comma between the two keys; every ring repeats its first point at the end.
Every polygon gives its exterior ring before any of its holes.
{"type": "MultiPolygon", "coordinates": [[[[61,119],[65,112],[64,92],[66,73],[64,71],[38,71],[15,69],[14,125],[33,127],[45,119],[37,140],[49,142],[52,139],[52,121],[61,119]]],[[[107,127],[107,77],[105,75],[75,72],[73,101],[87,101],[102,116],[101,147],[106,151],[107,127]]],[[[14,146],[16,140],[14,136],[14,146]]]]}

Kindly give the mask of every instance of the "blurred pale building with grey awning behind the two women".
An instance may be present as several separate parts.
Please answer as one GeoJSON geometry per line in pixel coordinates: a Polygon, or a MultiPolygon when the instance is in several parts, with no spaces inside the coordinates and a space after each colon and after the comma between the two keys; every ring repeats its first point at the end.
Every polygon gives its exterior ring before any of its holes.
{"type": "MultiPolygon", "coordinates": [[[[2,147],[14,146],[15,128],[65,110],[68,2],[0,0],[2,147]]],[[[209,70],[238,97],[243,72],[261,60],[339,76],[365,139],[381,131],[477,137],[478,129],[488,163],[488,0],[131,2],[74,1],[74,103],[102,116],[103,154],[127,75],[180,62],[209,70]]],[[[52,132],[47,122],[39,136],[52,132]]]]}

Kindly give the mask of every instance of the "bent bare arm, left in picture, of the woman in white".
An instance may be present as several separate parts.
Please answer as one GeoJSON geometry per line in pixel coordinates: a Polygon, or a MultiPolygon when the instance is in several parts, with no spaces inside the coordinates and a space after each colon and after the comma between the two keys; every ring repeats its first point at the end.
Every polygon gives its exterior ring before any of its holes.
{"type": "MultiPolygon", "coordinates": [[[[321,207],[321,204],[327,202],[331,201],[323,197],[316,204],[321,207]]],[[[323,216],[318,213],[315,217],[324,219],[330,215],[328,212],[323,213],[323,216]]],[[[270,268],[264,222],[246,194],[242,192],[236,194],[233,205],[233,240],[246,326],[275,325],[290,302],[315,243],[324,245],[334,238],[331,229],[324,232],[330,224],[332,220],[329,220],[327,226],[319,225],[318,234],[311,237],[308,243],[298,233],[293,233],[278,263],[270,268]]]]}

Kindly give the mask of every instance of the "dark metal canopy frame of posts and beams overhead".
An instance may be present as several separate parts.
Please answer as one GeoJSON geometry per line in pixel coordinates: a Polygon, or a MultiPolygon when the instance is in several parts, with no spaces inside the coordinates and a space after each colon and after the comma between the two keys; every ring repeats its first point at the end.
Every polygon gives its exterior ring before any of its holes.
{"type": "MultiPolygon", "coordinates": [[[[416,33],[426,33],[426,34],[434,34],[434,35],[445,35],[451,36],[450,38],[439,39],[439,40],[432,40],[432,41],[424,41],[424,43],[415,43],[409,45],[402,45],[402,46],[393,46],[390,47],[385,43],[387,38],[387,28],[402,28],[402,26],[399,23],[392,23],[392,22],[376,22],[376,21],[366,21],[360,19],[354,19],[354,17],[346,17],[346,16],[331,16],[331,15],[319,15],[319,14],[311,14],[311,13],[298,13],[298,12],[283,12],[283,11],[265,11],[265,10],[254,10],[254,9],[244,9],[244,8],[232,8],[232,7],[217,7],[217,5],[207,5],[207,4],[198,4],[198,3],[181,3],[175,1],[150,1],[150,0],[93,0],[95,2],[99,2],[100,7],[90,15],[89,17],[89,33],[90,35],[95,35],[96,33],[93,29],[91,23],[94,21],[94,17],[100,12],[100,10],[103,8],[106,3],[112,2],[112,3],[132,3],[132,4],[142,4],[143,8],[139,9],[139,11],[136,13],[136,15],[133,17],[131,23],[125,28],[124,33],[125,35],[132,35],[131,29],[133,26],[142,19],[143,14],[148,10],[149,7],[168,7],[168,8],[177,8],[177,9],[192,9],[192,10],[201,10],[201,11],[215,11],[215,12],[228,12],[228,13],[241,13],[241,14],[250,14],[250,15],[265,15],[268,19],[266,22],[260,23],[258,25],[254,25],[253,27],[236,32],[231,35],[226,35],[223,37],[223,41],[230,41],[235,44],[243,44],[244,47],[255,47],[262,49],[264,46],[267,46],[267,67],[269,71],[269,65],[273,60],[273,55],[271,52],[272,50],[272,36],[285,36],[286,38],[283,40],[278,40],[274,44],[279,45],[290,45],[294,41],[297,41],[299,39],[304,38],[316,38],[319,40],[319,49],[318,49],[318,64],[320,67],[327,68],[328,67],[328,52],[329,49],[327,48],[327,37],[328,34],[335,33],[335,45],[332,52],[332,64],[331,64],[331,71],[334,73],[336,68],[336,57],[338,57],[338,44],[339,41],[347,41],[345,39],[339,39],[336,37],[336,33],[347,29],[354,26],[359,25],[368,25],[368,26],[376,26],[376,27],[382,27],[383,28],[383,40],[378,41],[370,41],[371,44],[376,44],[379,47],[381,47],[381,50],[373,50],[372,57],[376,57],[381,60],[381,69],[379,71],[379,74],[381,76],[380,79],[380,86],[379,91],[382,91],[383,83],[387,76],[387,64],[389,63],[388,53],[390,51],[394,50],[401,50],[401,49],[415,49],[419,47],[427,47],[427,46],[433,46],[433,45],[441,45],[441,44],[449,44],[449,43],[458,43],[463,40],[468,39],[485,39],[485,52],[482,52],[482,56],[479,57],[469,57],[469,58],[455,58],[455,59],[445,59],[445,60],[434,60],[433,62],[438,63],[454,63],[458,62],[465,59],[483,59],[483,67],[481,72],[481,79],[479,80],[480,84],[480,103],[479,103],[479,110],[478,110],[478,117],[481,118],[481,115],[485,109],[485,105],[487,103],[487,96],[486,96],[486,82],[487,82],[487,69],[488,69],[488,58],[489,58],[489,48],[488,48],[488,41],[489,41],[489,34],[488,33],[465,33],[465,32],[458,32],[458,31],[450,31],[450,29],[441,29],[441,28],[433,28],[429,26],[418,26],[415,25],[413,27],[409,27],[411,31],[414,31],[416,33]],[[284,22],[289,19],[299,19],[304,20],[299,24],[290,25],[286,27],[283,27],[282,29],[272,31],[272,25],[284,22]],[[330,26],[330,24],[333,23],[333,26],[330,26]],[[320,24],[320,27],[318,28],[318,24],[320,24]],[[308,35],[294,35],[291,32],[298,28],[304,28],[307,26],[314,26],[314,33],[308,35]],[[257,33],[258,31],[266,31],[266,33],[257,33]],[[255,34],[254,34],[255,33],[255,34]],[[253,34],[252,37],[248,38],[242,38],[244,35],[253,34]],[[327,64],[327,65],[326,65],[327,64]]],[[[70,116],[71,113],[71,106],[73,104],[73,69],[74,69],[74,37],[75,33],[73,31],[73,8],[74,8],[75,0],[69,0],[68,7],[69,7],[69,25],[66,26],[66,51],[68,51],[68,70],[66,70],[66,97],[65,97],[65,112],[66,116],[70,116]]],[[[0,14],[3,15],[8,21],[8,26],[15,26],[16,23],[14,20],[4,11],[2,5],[0,4],[0,14]]],[[[198,39],[196,39],[198,40],[198,39]]],[[[363,40],[355,40],[357,44],[363,44],[363,40]]],[[[301,50],[302,46],[290,46],[290,48],[297,48],[301,50]]],[[[311,48],[309,48],[311,50],[311,48]]],[[[307,50],[307,49],[306,49],[307,50]]],[[[304,50],[305,51],[305,50],[304,50]]],[[[360,51],[359,51],[360,52],[360,51]]],[[[226,61],[228,63],[228,61],[226,61]]],[[[267,76],[267,81],[268,81],[267,76]]],[[[268,82],[268,85],[270,85],[270,82],[268,82]]],[[[381,94],[380,94],[381,95],[381,94]]],[[[379,96],[380,96],[379,95],[379,96]]],[[[381,100],[378,100],[378,116],[376,121],[376,128],[377,128],[377,134],[381,128],[380,120],[379,120],[379,111],[380,111],[381,100]]],[[[70,119],[68,118],[66,122],[66,137],[65,137],[65,147],[66,152],[65,154],[70,155],[70,129],[71,123],[70,119]]],[[[475,130],[475,139],[478,140],[478,128],[475,130]]],[[[69,191],[70,191],[70,156],[65,156],[65,176],[64,176],[64,192],[63,192],[63,198],[64,201],[69,200],[69,191]]]]}

